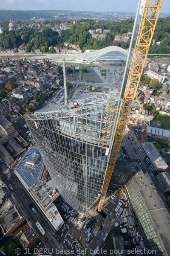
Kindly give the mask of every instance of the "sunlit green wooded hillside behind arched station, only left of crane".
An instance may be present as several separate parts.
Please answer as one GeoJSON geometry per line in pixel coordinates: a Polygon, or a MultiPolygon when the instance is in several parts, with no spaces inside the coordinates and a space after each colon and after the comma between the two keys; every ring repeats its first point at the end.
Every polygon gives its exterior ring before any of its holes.
{"type": "Polygon", "coordinates": [[[74,24],[71,29],[65,30],[64,40],[74,44],[78,44],[83,50],[85,49],[102,49],[111,45],[116,45],[127,49],[130,41],[117,42],[114,41],[115,35],[131,32],[133,29],[133,19],[123,20],[120,22],[107,22],[101,21],[96,23],[95,20],[86,20],[85,23],[80,22],[74,24]],[[88,32],[89,29],[109,29],[107,38],[96,40],[92,38],[92,35],[88,32]]]}

